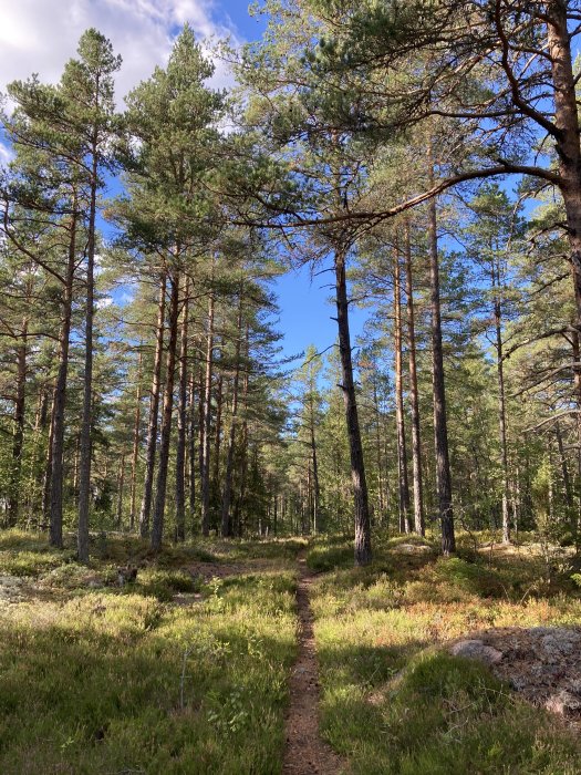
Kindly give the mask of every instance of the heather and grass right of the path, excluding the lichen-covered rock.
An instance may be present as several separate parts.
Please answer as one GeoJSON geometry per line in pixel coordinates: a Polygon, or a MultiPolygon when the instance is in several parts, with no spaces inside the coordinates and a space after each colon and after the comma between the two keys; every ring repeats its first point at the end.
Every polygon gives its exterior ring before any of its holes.
{"type": "MultiPolygon", "coordinates": [[[[380,542],[370,567],[312,587],[324,737],[362,775],[580,772],[579,741],[554,719],[436,648],[487,628],[579,624],[579,595],[536,587],[535,556],[446,560],[400,552],[407,542],[380,542]]],[[[335,559],[319,541],[319,566],[335,559]]]]}

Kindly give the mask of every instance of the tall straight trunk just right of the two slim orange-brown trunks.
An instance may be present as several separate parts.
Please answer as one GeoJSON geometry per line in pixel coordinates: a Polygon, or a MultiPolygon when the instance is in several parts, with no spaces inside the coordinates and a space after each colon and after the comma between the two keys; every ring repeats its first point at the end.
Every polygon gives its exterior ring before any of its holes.
{"type": "MultiPolygon", "coordinates": [[[[429,177],[434,180],[432,149],[429,149],[429,177]]],[[[433,388],[434,388],[434,441],[436,450],[436,486],[438,494],[438,512],[442,523],[442,551],[444,556],[456,551],[454,531],[454,514],[452,507],[452,475],[448,453],[448,427],[446,416],[446,390],[444,382],[444,350],[442,344],[442,309],[439,298],[439,265],[436,200],[428,204],[428,240],[429,240],[429,283],[432,307],[432,352],[433,352],[433,388]]]]}

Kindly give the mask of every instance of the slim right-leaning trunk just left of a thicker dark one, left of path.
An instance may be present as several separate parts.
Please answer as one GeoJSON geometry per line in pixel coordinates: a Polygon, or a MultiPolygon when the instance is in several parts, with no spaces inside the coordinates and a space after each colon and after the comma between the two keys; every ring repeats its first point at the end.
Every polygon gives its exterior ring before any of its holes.
{"type": "Polygon", "coordinates": [[[159,299],[157,303],[157,327],[152,378],[152,395],[149,400],[149,422],[147,425],[147,441],[145,443],[145,476],[143,483],[142,508],[139,512],[139,533],[142,538],[147,538],[149,535],[149,517],[152,513],[155,451],[157,446],[157,423],[159,414],[159,392],[162,384],[162,358],[164,352],[166,282],[167,276],[164,270],[162,272],[159,281],[159,299]]]}

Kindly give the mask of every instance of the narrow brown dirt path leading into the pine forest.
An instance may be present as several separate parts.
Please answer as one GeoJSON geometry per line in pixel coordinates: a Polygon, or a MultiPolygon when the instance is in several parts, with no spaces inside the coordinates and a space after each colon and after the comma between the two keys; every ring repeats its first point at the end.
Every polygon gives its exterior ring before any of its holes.
{"type": "Polygon", "coordinates": [[[290,680],[290,707],[287,715],[287,750],[283,775],[339,775],[344,762],[319,736],[319,678],[313,636],[313,616],[309,587],[313,576],[304,558],[299,558],[300,578],[297,606],[300,619],[299,658],[290,680]]]}

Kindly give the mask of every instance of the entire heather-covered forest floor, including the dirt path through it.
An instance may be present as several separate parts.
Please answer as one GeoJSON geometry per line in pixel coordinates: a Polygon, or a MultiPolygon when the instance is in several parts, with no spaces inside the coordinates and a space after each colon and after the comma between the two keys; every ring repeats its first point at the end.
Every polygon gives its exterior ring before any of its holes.
{"type": "Polygon", "coordinates": [[[101,535],[84,567],[0,534],[0,772],[578,774],[573,558],[459,547],[101,535]],[[498,664],[450,653],[475,638],[498,664]]]}

